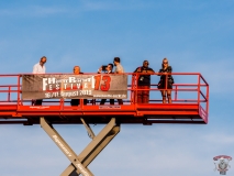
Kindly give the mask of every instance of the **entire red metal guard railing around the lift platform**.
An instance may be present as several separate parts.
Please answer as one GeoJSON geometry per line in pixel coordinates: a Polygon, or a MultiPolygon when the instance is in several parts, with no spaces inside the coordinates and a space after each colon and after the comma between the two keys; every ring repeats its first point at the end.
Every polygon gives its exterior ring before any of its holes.
{"type": "MultiPolygon", "coordinates": [[[[26,74],[29,75],[29,74],[26,74]]],[[[49,74],[46,74],[49,75],[49,74]]],[[[53,74],[55,75],[55,74],[53,74]]],[[[63,75],[63,74],[59,74],[63,75]]],[[[86,75],[86,74],[85,74],[86,75]]],[[[87,74],[89,75],[89,74],[87,74]]],[[[126,73],[127,75],[127,99],[124,99],[123,106],[137,106],[136,95],[137,91],[143,90],[137,88],[137,80],[143,74],[126,73]]],[[[161,103],[161,90],[158,89],[158,80],[160,74],[144,74],[151,75],[149,101],[148,103],[161,103]]],[[[172,73],[175,84],[172,85],[172,103],[198,103],[207,112],[209,111],[209,85],[199,73],[172,73]],[[189,92],[186,95],[186,92],[189,92]]],[[[168,75],[166,74],[166,77],[168,75]]],[[[0,106],[1,105],[18,105],[18,106],[32,106],[32,100],[22,99],[22,75],[0,75],[0,106]],[[3,84],[4,82],[4,84],[3,84]]],[[[167,81],[166,81],[167,85],[167,81]]],[[[55,105],[62,107],[70,106],[69,99],[44,99],[43,105],[55,105]]],[[[100,99],[89,99],[87,106],[99,105],[100,99]]],[[[116,102],[115,102],[116,103],[116,102]]],[[[85,107],[82,100],[80,106],[85,107]]]]}

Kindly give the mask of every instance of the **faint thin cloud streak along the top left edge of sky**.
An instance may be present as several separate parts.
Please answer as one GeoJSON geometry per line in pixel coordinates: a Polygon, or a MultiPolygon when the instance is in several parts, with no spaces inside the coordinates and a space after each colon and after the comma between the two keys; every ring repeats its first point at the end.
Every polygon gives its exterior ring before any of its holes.
{"type": "Polygon", "coordinates": [[[57,3],[56,6],[18,6],[9,9],[0,8],[0,15],[3,16],[47,16],[53,14],[74,14],[86,11],[107,11],[107,10],[141,10],[158,8],[155,3],[145,1],[90,1],[82,0],[75,4],[57,3]]]}

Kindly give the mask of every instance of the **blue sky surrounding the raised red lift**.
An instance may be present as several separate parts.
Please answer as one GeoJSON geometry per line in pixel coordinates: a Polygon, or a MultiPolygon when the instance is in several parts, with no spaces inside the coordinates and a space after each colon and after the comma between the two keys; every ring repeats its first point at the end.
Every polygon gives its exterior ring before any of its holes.
{"type": "MultiPolygon", "coordinates": [[[[158,70],[164,57],[175,73],[201,73],[209,124],[122,125],[89,168],[97,176],[213,176],[213,156],[234,157],[233,31],[233,0],[1,1],[0,74],[31,73],[43,55],[47,73],[74,65],[94,73],[114,56],[127,73],[144,59],[158,70]]],[[[90,141],[82,125],[55,128],[77,153],[90,141]]],[[[40,125],[1,125],[0,139],[0,175],[59,175],[69,165],[40,125]]]]}

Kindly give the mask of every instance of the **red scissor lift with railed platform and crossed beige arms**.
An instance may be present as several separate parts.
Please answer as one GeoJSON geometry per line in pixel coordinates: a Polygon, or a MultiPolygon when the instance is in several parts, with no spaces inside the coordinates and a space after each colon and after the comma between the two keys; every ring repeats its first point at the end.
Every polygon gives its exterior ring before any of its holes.
{"type": "MultiPolygon", "coordinates": [[[[93,176],[88,165],[120,132],[120,125],[124,123],[151,125],[153,123],[191,123],[207,124],[209,112],[209,85],[199,73],[176,73],[178,84],[172,87],[172,103],[161,103],[156,95],[157,81],[152,80],[148,103],[137,103],[137,77],[127,74],[129,98],[124,105],[100,106],[99,100],[88,100],[83,105],[71,107],[69,99],[44,100],[42,106],[32,106],[32,100],[21,98],[21,75],[0,75],[0,124],[41,124],[49,138],[70,161],[70,165],[62,173],[62,176],[93,176]],[[179,84],[182,76],[196,77],[196,82],[179,84]],[[2,81],[3,80],[3,81],[2,81]],[[13,82],[13,84],[12,84],[13,82]],[[180,96],[189,92],[187,96],[180,96]],[[194,95],[189,97],[189,95],[194,95]],[[107,124],[99,134],[94,135],[89,124],[107,124]],[[77,155],[65,140],[54,129],[53,124],[83,124],[92,141],[77,155]]],[[[157,74],[154,74],[157,75],[157,74]]],[[[152,75],[152,77],[154,77],[152,75]]],[[[156,76],[155,76],[156,78],[156,76]]],[[[181,79],[182,80],[182,79],[181,79]]]]}

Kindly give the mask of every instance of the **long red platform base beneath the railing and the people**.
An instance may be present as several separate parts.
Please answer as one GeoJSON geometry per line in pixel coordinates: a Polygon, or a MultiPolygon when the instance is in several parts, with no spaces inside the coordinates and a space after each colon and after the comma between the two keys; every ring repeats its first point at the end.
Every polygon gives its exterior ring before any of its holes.
{"type": "Polygon", "coordinates": [[[54,124],[108,123],[208,123],[208,114],[198,103],[146,103],[123,106],[19,106],[0,105],[0,124],[40,124],[44,117],[54,124]]]}

